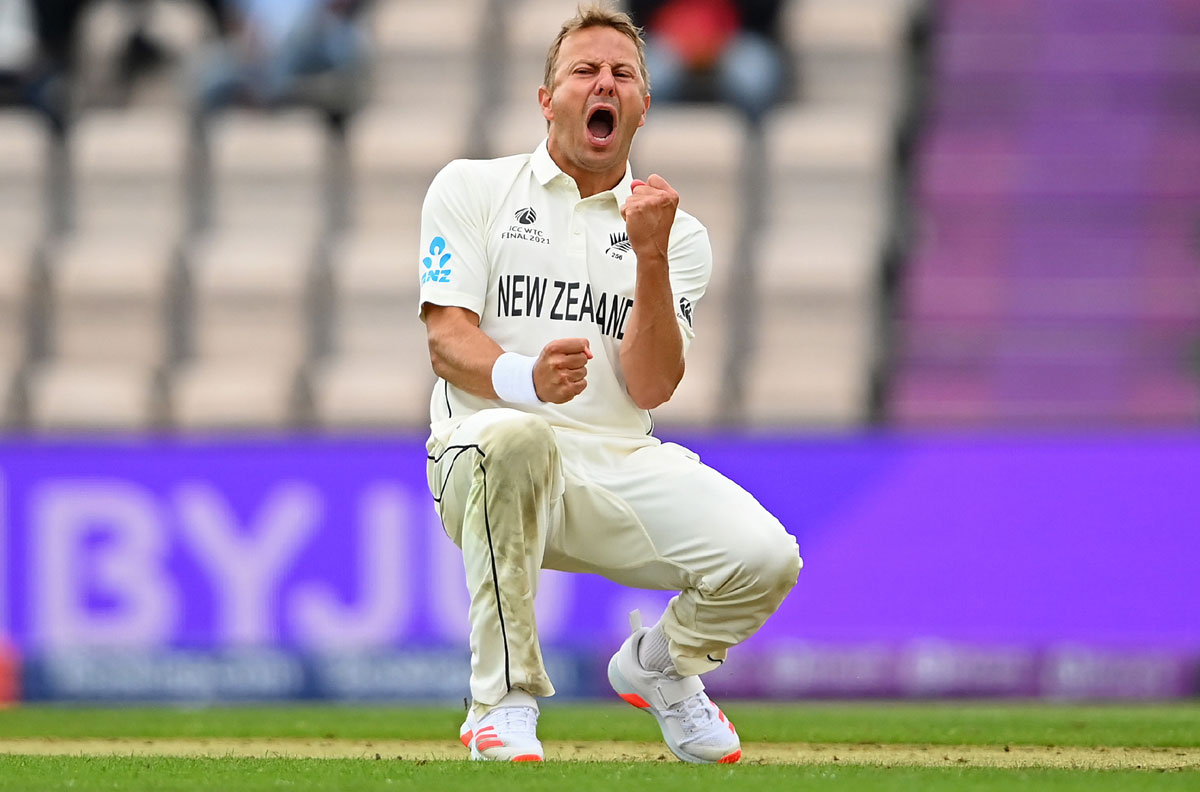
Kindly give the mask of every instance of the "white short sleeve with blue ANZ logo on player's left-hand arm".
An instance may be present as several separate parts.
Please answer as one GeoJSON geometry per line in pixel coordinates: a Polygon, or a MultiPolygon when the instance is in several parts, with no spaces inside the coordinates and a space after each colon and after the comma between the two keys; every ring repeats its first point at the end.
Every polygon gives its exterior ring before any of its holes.
{"type": "Polygon", "coordinates": [[[425,305],[463,307],[482,314],[487,296],[486,185],[470,179],[469,162],[456,160],[434,176],[421,205],[418,277],[425,305]]]}

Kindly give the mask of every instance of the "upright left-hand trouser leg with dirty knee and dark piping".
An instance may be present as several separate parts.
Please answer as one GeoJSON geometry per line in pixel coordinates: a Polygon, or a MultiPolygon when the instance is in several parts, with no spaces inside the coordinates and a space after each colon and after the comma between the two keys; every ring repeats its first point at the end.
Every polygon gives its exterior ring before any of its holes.
{"type": "Polygon", "coordinates": [[[434,454],[430,486],[446,534],[462,548],[472,696],[494,704],[514,688],[553,695],[534,616],[546,536],[563,490],[553,430],[518,410],[478,413],[434,454]]]}

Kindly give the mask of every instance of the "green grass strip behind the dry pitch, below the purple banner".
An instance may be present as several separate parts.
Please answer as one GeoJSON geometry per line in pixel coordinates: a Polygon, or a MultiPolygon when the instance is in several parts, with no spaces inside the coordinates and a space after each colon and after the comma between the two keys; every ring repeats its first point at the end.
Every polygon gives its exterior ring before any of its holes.
{"type": "MultiPolygon", "coordinates": [[[[1045,703],[725,702],[745,740],[938,745],[1200,746],[1200,702],[1138,706],[1045,703]]],[[[448,707],[223,707],[212,709],[20,707],[0,712],[0,737],[340,737],[454,739],[448,707]]],[[[625,704],[547,702],[545,739],[654,740],[658,727],[625,704]]]]}

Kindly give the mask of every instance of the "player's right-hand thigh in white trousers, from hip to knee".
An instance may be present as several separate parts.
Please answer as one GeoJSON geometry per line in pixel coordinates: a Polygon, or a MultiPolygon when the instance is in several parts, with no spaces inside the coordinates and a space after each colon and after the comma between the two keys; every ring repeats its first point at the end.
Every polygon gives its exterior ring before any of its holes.
{"type": "Polygon", "coordinates": [[[710,587],[740,560],[791,544],[750,493],[674,444],[568,469],[563,505],[546,565],[637,588],[710,587]]]}

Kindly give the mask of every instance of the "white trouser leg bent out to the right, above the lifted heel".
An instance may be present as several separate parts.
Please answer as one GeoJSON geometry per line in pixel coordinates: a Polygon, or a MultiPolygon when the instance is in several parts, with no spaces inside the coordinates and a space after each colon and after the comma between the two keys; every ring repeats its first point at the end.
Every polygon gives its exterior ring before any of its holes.
{"type": "Polygon", "coordinates": [[[684,676],[724,662],[730,647],[779,608],[799,575],[796,539],[779,521],[679,446],[638,450],[587,482],[569,475],[564,511],[570,558],[556,559],[559,568],[679,592],[661,624],[684,676]],[[618,547],[628,552],[613,557],[618,547]]]}

